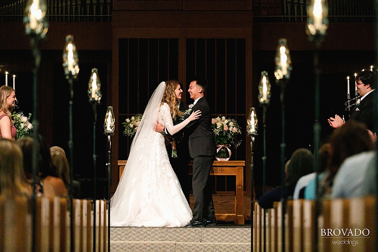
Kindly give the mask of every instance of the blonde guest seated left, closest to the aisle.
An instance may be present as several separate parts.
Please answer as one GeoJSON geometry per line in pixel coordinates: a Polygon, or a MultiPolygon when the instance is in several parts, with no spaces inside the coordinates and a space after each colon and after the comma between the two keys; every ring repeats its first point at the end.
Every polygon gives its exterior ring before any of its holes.
{"type": "Polygon", "coordinates": [[[58,169],[58,174],[63,179],[65,188],[69,192],[70,197],[75,199],[81,198],[80,182],[70,180],[69,164],[64,150],[59,146],[52,146],[50,147],[50,155],[52,164],[58,169]]]}

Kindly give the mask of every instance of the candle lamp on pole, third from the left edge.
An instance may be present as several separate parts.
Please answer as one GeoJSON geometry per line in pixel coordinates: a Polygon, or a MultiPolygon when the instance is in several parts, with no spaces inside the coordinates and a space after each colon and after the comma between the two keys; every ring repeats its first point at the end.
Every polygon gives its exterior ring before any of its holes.
{"type": "Polygon", "coordinates": [[[96,157],[96,122],[97,122],[97,105],[100,104],[102,97],[101,82],[98,78],[97,68],[92,68],[91,78],[88,82],[88,96],[89,102],[92,103],[92,109],[94,114],[93,120],[93,170],[94,170],[94,218],[93,218],[93,251],[96,251],[96,181],[97,181],[97,157],[96,157]]]}

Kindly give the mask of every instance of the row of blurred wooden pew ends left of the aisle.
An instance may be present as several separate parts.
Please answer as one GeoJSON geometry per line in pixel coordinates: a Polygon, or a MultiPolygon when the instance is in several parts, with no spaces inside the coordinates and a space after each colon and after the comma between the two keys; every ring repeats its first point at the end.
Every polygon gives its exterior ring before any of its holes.
{"type": "MultiPolygon", "coordinates": [[[[70,251],[70,211],[65,198],[37,198],[34,251],[70,251]]],[[[107,252],[107,201],[73,199],[74,251],[107,252]],[[95,239],[94,238],[94,215],[95,239]],[[94,246],[95,241],[95,246],[94,246]]],[[[32,251],[31,202],[26,198],[0,199],[0,251],[32,251]]]]}

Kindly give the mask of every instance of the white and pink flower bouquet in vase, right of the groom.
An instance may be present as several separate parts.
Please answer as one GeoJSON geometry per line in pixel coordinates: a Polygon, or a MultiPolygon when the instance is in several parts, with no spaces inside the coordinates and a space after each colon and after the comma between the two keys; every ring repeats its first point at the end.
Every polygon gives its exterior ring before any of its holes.
{"type": "Polygon", "coordinates": [[[235,148],[240,145],[242,140],[236,141],[236,136],[241,134],[242,131],[236,120],[218,116],[211,120],[211,126],[213,128],[216,144],[231,144],[234,145],[235,148]]]}

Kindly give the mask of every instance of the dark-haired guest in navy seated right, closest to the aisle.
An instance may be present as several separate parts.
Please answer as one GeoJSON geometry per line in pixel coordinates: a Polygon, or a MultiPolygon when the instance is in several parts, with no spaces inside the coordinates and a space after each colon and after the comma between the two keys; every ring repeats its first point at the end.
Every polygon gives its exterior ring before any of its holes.
{"type": "Polygon", "coordinates": [[[314,155],[308,149],[300,148],[295,150],[285,169],[284,191],[282,186],[278,186],[265,192],[258,200],[260,207],[264,209],[272,208],[273,202],[280,201],[283,194],[285,198],[291,198],[299,178],[314,171],[314,159],[314,155]]]}

